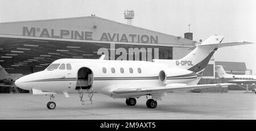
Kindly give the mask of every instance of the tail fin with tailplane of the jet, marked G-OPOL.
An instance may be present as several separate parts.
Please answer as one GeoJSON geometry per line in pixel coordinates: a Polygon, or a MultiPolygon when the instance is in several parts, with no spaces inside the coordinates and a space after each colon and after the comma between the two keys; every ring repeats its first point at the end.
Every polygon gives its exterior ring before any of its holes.
{"type": "Polygon", "coordinates": [[[210,58],[212,58],[214,52],[220,47],[226,46],[236,46],[236,45],[245,45],[252,42],[229,42],[229,43],[221,43],[224,39],[224,36],[211,36],[207,40],[205,40],[201,45],[196,45],[192,47],[192,50],[189,54],[184,56],[179,60],[154,60],[154,62],[171,64],[176,67],[188,69],[193,72],[202,71],[207,64],[209,63],[210,58]]]}

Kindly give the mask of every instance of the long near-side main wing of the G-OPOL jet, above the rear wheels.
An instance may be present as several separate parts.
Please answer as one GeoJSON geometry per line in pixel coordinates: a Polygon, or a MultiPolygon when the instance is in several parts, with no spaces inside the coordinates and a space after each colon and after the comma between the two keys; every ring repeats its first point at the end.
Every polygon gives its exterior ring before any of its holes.
{"type": "Polygon", "coordinates": [[[209,87],[219,87],[219,86],[228,86],[236,85],[231,83],[223,84],[203,84],[203,85],[185,85],[185,84],[168,84],[167,86],[155,86],[155,87],[146,87],[146,88],[117,88],[113,90],[115,95],[147,95],[154,93],[164,93],[168,91],[177,91],[177,90],[188,90],[188,89],[197,89],[197,88],[209,88],[209,87]]]}

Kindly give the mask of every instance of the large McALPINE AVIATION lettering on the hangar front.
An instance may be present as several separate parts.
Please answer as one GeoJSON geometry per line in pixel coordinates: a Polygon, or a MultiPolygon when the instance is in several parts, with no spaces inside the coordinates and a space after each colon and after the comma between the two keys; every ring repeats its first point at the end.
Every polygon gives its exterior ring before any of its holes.
{"type": "MultiPolygon", "coordinates": [[[[48,37],[48,38],[69,38],[75,40],[89,40],[93,41],[93,32],[77,31],[60,29],[56,32],[55,29],[23,27],[23,36],[32,37],[48,37]]],[[[115,42],[142,42],[142,43],[158,43],[158,36],[148,36],[147,34],[119,34],[103,32],[99,41],[115,41],[115,42]]]]}

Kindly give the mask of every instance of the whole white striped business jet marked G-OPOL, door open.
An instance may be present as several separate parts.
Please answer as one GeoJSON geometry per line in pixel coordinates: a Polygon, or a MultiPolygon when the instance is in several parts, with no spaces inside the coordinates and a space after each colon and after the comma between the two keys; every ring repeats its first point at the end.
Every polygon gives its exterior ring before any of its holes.
{"type": "MultiPolygon", "coordinates": [[[[54,109],[53,94],[78,90],[96,91],[112,98],[126,98],[128,106],[136,104],[136,98],[151,96],[146,105],[157,106],[156,100],[168,91],[188,90],[210,86],[233,84],[197,85],[200,72],[206,67],[214,51],[219,47],[243,45],[251,42],[220,43],[223,36],[211,36],[193,47],[187,56],[179,60],[154,60],[154,62],[104,60],[100,59],[59,59],[44,71],[32,73],[15,81],[16,86],[31,90],[33,94],[49,94],[49,109],[54,109]]],[[[92,95],[90,95],[92,100],[92,95]]],[[[80,96],[82,97],[82,95],[80,96]]]]}

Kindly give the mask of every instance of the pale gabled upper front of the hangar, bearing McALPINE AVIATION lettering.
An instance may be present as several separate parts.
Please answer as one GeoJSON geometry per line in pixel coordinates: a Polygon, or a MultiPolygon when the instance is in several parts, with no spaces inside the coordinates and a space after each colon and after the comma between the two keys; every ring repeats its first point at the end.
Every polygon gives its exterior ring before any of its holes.
{"type": "Polygon", "coordinates": [[[185,38],[134,27],[97,16],[0,23],[0,37],[178,47],[191,47],[196,43],[185,38]]]}

